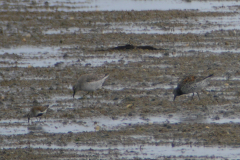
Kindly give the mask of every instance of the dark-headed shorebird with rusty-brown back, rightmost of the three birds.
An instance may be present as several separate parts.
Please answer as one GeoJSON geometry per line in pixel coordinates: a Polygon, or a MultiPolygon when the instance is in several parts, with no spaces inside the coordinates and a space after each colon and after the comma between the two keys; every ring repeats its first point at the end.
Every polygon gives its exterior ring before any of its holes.
{"type": "MultiPolygon", "coordinates": [[[[208,78],[212,77],[213,74],[210,74],[209,76],[186,76],[184,77],[177,85],[177,88],[173,90],[174,98],[173,101],[177,96],[180,96],[182,94],[188,94],[188,93],[197,93],[201,91],[204,87],[208,85],[208,78]]],[[[192,98],[193,98],[192,96],[192,98]]],[[[198,98],[200,99],[199,95],[198,98]]]]}

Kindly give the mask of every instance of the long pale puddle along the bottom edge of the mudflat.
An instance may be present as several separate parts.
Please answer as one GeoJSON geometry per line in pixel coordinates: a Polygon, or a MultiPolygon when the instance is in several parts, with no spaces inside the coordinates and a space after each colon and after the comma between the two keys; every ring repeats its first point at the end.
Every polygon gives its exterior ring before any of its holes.
{"type": "MultiPolygon", "coordinates": [[[[16,149],[16,148],[29,148],[29,145],[14,145],[14,146],[1,146],[1,149],[16,149]]],[[[75,153],[78,155],[91,152],[98,154],[104,158],[111,150],[116,152],[118,158],[150,158],[156,159],[166,156],[200,156],[216,158],[238,158],[240,156],[240,148],[231,147],[197,147],[197,146],[177,146],[171,145],[76,145],[70,144],[65,146],[57,145],[30,145],[30,148],[36,149],[61,149],[66,154],[75,153]]]]}

